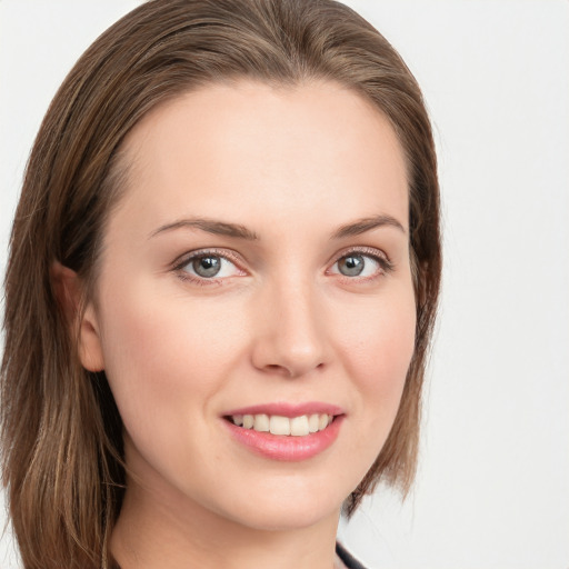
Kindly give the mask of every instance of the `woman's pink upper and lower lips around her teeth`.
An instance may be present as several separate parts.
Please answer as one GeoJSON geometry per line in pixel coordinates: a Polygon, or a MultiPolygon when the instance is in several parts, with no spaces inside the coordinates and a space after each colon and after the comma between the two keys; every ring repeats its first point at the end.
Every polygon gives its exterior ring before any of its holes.
{"type": "Polygon", "coordinates": [[[258,432],[254,429],[243,429],[233,425],[229,419],[223,420],[230,435],[239,443],[264,458],[282,461],[301,461],[316,457],[329,448],[338,438],[345,415],[339,407],[327,403],[270,403],[234,409],[226,415],[279,415],[281,417],[298,417],[301,415],[327,413],[333,415],[333,421],[322,431],[303,437],[271,435],[258,432]]]}

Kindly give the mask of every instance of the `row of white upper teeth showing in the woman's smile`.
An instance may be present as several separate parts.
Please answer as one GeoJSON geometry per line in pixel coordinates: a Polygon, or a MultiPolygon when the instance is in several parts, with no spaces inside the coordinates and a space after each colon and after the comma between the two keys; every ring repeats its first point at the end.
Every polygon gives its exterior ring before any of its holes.
{"type": "Polygon", "coordinates": [[[306,437],[312,432],[326,429],[333,420],[327,413],[301,415],[300,417],[281,417],[279,415],[233,415],[231,420],[243,429],[254,429],[259,432],[306,437]]]}

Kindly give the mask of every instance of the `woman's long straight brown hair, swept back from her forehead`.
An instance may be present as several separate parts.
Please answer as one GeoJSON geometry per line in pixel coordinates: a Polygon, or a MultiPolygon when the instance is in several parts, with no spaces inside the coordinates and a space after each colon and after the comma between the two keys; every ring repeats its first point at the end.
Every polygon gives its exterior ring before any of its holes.
{"type": "Polygon", "coordinates": [[[2,475],[26,569],[108,567],[124,492],[122,422],[104,372],[79,363],[58,305],[58,261],[97,277],[101,236],[128,170],[121,143],[150,109],[233,78],[339,82],[391,121],[409,178],[416,349],[389,438],[347,501],[379,480],[406,491],[417,461],[426,353],[440,280],[435,146],[421,92],[388,41],[331,0],[153,0],[107,30],[56,94],[36,139],[6,276],[2,475]]]}

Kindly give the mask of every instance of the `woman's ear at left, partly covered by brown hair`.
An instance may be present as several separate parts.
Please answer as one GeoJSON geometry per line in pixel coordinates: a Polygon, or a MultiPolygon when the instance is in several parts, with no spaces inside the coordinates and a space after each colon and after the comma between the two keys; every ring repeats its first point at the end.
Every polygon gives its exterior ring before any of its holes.
{"type": "Polygon", "coordinates": [[[102,371],[104,359],[93,303],[88,302],[81,313],[81,279],[76,271],[56,261],[51,266],[51,282],[71,333],[79,331],[78,350],[81,365],[89,371],[102,371]]]}

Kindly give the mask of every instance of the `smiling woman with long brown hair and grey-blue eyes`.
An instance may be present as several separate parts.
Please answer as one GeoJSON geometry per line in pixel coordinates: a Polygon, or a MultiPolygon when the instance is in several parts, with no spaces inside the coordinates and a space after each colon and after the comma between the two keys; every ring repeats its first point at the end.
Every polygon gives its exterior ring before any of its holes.
{"type": "Polygon", "coordinates": [[[413,476],[438,216],[419,88],[345,6],[154,0],[111,27],[12,232],[26,569],[357,567],[340,510],[413,476]]]}

